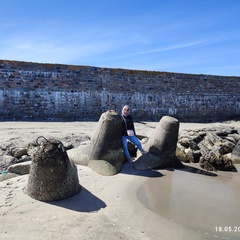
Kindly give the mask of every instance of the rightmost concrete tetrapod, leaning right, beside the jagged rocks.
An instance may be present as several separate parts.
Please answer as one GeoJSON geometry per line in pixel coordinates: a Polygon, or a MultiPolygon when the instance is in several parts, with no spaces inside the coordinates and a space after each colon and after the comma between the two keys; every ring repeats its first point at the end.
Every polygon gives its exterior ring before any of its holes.
{"type": "Polygon", "coordinates": [[[149,153],[142,155],[134,162],[137,170],[151,168],[183,167],[176,157],[179,122],[177,119],[164,116],[152,132],[144,149],[149,153]]]}

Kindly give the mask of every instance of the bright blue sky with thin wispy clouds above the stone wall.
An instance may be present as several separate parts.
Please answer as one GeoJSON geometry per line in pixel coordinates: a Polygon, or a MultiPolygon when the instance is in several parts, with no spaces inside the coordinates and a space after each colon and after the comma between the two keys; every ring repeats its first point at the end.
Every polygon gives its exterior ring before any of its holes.
{"type": "Polygon", "coordinates": [[[1,0],[0,59],[240,76],[239,0],[1,0]]]}

